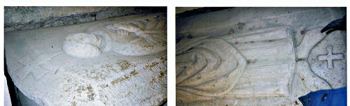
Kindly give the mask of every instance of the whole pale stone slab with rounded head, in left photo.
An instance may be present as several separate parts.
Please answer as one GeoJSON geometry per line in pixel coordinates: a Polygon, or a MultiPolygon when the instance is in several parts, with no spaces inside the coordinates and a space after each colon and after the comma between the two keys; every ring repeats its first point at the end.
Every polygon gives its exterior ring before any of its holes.
{"type": "Polygon", "coordinates": [[[166,25],[166,15],[155,13],[8,32],[8,73],[38,105],[160,105],[166,25]]]}

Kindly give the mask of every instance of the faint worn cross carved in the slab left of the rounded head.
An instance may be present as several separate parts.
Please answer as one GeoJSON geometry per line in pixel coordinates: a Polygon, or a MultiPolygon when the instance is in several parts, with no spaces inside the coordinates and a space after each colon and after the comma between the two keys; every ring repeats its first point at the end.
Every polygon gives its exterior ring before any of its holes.
{"type": "Polygon", "coordinates": [[[47,69],[41,67],[40,65],[60,53],[61,52],[41,54],[40,56],[36,57],[36,59],[31,59],[29,55],[23,56],[19,61],[22,63],[23,67],[16,71],[16,75],[18,75],[20,79],[25,79],[25,77],[31,74],[33,75],[34,79],[40,79],[47,71],[47,69]]]}

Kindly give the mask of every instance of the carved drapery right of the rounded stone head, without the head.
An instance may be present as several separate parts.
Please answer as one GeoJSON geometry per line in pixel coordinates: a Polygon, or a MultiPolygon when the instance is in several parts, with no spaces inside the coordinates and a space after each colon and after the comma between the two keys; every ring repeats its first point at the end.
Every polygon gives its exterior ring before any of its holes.
{"type": "Polygon", "coordinates": [[[166,20],[150,17],[146,20],[104,22],[87,29],[102,37],[102,52],[125,56],[157,54],[167,49],[166,20]]]}

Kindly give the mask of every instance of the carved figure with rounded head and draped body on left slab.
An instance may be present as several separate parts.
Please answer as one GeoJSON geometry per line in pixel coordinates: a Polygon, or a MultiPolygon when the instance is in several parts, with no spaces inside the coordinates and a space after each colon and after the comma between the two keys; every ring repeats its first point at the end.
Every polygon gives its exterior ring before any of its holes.
{"type": "Polygon", "coordinates": [[[67,36],[63,50],[80,58],[99,56],[101,51],[127,56],[155,54],[167,49],[165,29],[166,20],[159,15],[146,20],[104,22],[90,27],[86,33],[67,36]]]}

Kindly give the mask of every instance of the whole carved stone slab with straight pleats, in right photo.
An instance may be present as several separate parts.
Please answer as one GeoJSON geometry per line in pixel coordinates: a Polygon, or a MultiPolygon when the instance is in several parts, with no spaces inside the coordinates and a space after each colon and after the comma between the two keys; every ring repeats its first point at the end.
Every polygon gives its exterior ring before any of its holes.
{"type": "Polygon", "coordinates": [[[344,14],[231,8],[176,20],[176,105],[302,105],[346,86],[346,33],[320,32],[344,14]]]}

